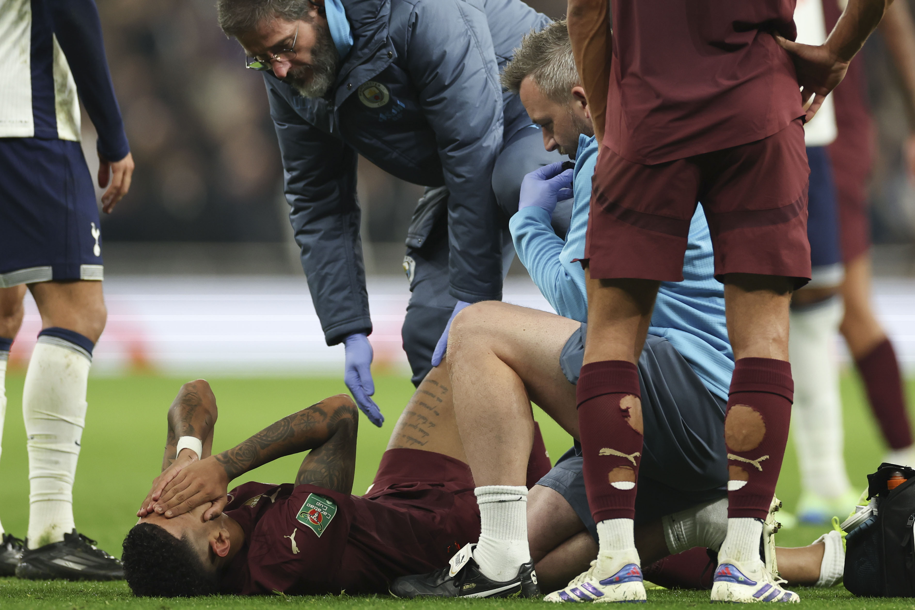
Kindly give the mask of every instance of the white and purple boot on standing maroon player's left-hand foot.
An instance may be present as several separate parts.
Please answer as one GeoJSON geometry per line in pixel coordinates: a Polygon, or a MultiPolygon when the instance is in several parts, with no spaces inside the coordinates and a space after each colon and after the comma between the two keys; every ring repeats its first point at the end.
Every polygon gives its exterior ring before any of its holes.
{"type": "Polygon", "coordinates": [[[572,579],[565,589],[544,597],[544,602],[644,602],[639,564],[639,555],[633,551],[619,558],[598,554],[587,572],[572,579]]]}

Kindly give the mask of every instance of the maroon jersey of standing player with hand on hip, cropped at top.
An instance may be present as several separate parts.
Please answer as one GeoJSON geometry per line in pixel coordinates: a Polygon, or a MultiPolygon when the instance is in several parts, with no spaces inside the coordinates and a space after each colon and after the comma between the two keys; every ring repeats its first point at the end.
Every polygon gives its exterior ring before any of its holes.
{"type": "Polygon", "coordinates": [[[803,114],[794,0],[614,0],[603,144],[653,165],[748,144],[803,114]]]}

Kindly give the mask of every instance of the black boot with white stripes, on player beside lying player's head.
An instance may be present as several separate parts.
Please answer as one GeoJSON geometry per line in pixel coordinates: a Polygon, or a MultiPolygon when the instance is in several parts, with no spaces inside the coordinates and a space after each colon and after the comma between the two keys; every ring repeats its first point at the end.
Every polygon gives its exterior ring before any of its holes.
{"type": "Polygon", "coordinates": [[[117,581],[124,578],[120,561],[95,546],[77,530],[38,549],[22,552],[16,576],[29,580],[117,581]]]}

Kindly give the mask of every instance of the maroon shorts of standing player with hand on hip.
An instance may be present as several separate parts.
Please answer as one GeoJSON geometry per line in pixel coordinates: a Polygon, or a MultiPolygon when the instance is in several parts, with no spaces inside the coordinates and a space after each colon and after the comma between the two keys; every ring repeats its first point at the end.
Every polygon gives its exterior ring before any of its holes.
{"type": "Polygon", "coordinates": [[[585,256],[591,277],[683,280],[690,221],[702,202],[715,275],[810,279],[800,119],[757,142],[654,166],[606,146],[594,172],[585,256]]]}

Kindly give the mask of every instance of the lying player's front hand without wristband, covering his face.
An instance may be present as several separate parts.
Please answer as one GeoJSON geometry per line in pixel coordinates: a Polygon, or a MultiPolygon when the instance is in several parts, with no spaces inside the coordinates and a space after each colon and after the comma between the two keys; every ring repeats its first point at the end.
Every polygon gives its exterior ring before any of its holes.
{"type": "Polygon", "coordinates": [[[203,513],[203,519],[216,519],[228,503],[228,491],[229,476],[216,460],[216,456],[210,455],[206,459],[185,466],[169,481],[154,505],[154,510],[159,515],[171,519],[201,504],[212,502],[213,505],[203,513]]]}

